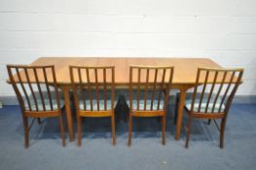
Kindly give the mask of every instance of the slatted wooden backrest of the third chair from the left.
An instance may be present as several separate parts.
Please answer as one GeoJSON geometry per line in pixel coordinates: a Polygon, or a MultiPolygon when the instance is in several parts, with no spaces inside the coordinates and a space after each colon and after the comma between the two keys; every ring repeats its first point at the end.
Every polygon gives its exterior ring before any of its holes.
{"type": "Polygon", "coordinates": [[[130,66],[130,109],[137,111],[166,110],[168,94],[172,85],[173,69],[173,67],[130,66]],[[162,102],[164,105],[160,107],[162,102]]]}

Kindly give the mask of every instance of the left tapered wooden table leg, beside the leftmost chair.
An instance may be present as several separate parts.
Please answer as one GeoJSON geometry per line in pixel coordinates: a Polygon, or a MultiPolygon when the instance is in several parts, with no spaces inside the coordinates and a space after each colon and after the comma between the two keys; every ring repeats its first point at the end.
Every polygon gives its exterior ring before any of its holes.
{"type": "Polygon", "coordinates": [[[68,133],[69,133],[69,140],[74,141],[74,130],[73,130],[71,109],[70,109],[69,88],[62,87],[62,93],[63,93],[64,101],[65,101],[65,111],[66,111],[66,118],[67,118],[67,128],[68,128],[68,133]]]}

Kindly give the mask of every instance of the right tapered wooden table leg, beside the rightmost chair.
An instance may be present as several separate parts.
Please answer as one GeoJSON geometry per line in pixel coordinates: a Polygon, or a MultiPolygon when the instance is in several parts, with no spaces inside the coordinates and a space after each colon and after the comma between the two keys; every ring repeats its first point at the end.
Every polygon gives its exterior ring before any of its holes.
{"type": "Polygon", "coordinates": [[[180,88],[175,139],[179,140],[187,89],[180,88]]]}

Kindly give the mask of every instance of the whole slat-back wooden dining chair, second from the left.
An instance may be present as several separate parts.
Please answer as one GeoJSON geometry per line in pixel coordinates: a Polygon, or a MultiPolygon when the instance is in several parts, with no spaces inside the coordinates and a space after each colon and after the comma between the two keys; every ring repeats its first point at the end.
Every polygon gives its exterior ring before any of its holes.
{"type": "Polygon", "coordinates": [[[115,67],[69,66],[78,125],[78,147],[82,145],[82,118],[110,117],[115,137],[115,67]]]}

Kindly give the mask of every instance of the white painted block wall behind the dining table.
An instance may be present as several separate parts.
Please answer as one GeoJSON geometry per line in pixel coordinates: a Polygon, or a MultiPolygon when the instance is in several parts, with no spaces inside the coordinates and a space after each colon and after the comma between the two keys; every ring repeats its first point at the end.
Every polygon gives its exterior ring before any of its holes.
{"type": "Polygon", "coordinates": [[[43,55],[210,57],[256,94],[256,1],[0,0],[0,95],[7,63],[43,55]]]}

